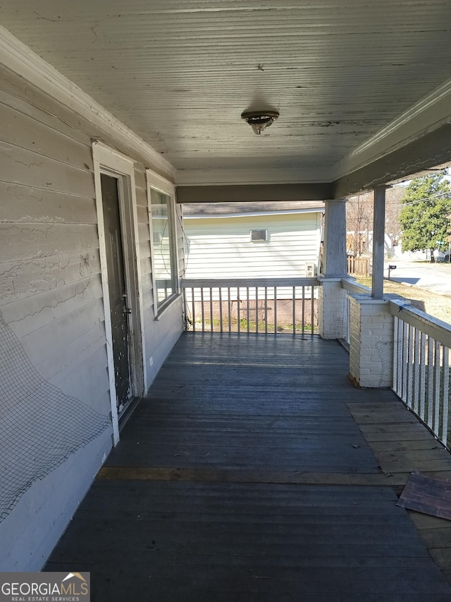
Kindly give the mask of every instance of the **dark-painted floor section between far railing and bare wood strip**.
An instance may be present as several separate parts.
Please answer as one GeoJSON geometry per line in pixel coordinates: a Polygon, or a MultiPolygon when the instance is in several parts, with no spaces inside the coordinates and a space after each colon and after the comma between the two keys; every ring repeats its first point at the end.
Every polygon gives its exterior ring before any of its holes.
{"type": "Polygon", "coordinates": [[[346,354],[335,355],[336,342],[279,338],[182,339],[106,465],[377,473],[345,404],[330,395],[331,370],[354,394],[346,354]]]}

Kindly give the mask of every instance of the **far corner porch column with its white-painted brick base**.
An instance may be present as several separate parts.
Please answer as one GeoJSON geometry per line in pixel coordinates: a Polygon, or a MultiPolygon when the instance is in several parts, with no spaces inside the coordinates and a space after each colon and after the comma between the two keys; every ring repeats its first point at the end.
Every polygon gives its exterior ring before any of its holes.
{"type": "Polygon", "coordinates": [[[345,338],[346,294],[341,279],[346,276],[346,200],[326,200],[318,303],[319,334],[323,339],[345,338]]]}

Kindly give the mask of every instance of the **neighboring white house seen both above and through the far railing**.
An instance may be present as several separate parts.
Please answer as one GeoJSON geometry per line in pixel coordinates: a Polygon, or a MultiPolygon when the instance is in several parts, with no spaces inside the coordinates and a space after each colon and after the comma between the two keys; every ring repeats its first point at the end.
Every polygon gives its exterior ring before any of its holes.
{"type": "MultiPolygon", "coordinates": [[[[241,318],[265,322],[266,327],[292,329],[293,294],[301,300],[295,319],[317,320],[314,287],[278,287],[269,290],[249,279],[316,276],[321,247],[324,203],[291,201],[266,203],[193,203],[183,207],[185,231],[185,279],[235,279],[223,291],[211,289],[213,320],[230,312],[230,327],[241,318]],[[242,281],[242,286],[237,287],[242,281]],[[277,299],[277,301],[275,301],[277,299]],[[311,299],[308,308],[302,299],[311,299]],[[258,316],[258,320],[257,320],[258,316]],[[315,317],[314,317],[315,316],[315,317]]],[[[255,281],[254,281],[255,282],[255,281]]],[[[200,289],[186,289],[187,318],[209,313],[209,299],[200,289]],[[194,298],[193,298],[194,295],[194,298]]],[[[204,318],[202,318],[202,323],[204,318]]]]}

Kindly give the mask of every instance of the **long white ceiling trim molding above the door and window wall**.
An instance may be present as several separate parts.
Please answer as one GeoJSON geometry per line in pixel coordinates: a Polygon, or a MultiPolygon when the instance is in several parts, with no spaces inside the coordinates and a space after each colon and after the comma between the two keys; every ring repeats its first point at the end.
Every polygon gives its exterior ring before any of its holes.
{"type": "Polygon", "coordinates": [[[137,152],[149,163],[147,167],[175,179],[176,170],[167,159],[1,25],[0,57],[0,63],[8,69],[90,121],[106,136],[137,152]]]}

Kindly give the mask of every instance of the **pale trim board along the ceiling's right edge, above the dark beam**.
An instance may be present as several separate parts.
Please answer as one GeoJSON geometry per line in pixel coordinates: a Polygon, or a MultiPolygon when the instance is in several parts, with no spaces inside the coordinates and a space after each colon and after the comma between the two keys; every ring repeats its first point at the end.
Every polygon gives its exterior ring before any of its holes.
{"type": "Polygon", "coordinates": [[[451,80],[409,107],[335,165],[333,179],[342,179],[431,133],[451,121],[451,80]]]}

